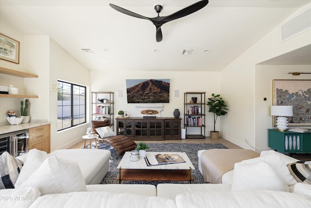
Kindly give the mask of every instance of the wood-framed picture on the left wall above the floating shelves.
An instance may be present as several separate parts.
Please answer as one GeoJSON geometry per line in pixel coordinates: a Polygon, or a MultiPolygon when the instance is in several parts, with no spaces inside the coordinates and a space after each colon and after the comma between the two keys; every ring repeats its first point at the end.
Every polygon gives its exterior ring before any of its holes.
{"type": "Polygon", "coordinates": [[[0,34],[0,59],[19,64],[19,42],[0,34]]]}

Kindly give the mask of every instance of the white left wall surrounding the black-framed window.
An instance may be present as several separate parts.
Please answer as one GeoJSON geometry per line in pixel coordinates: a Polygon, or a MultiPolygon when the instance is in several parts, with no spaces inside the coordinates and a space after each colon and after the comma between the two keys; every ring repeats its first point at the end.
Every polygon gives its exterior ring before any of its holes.
{"type": "MultiPolygon", "coordinates": [[[[50,38],[50,71],[49,79],[49,113],[51,124],[51,150],[66,149],[81,140],[85,135],[86,128],[89,127],[87,120],[86,124],[57,132],[57,92],[52,90],[52,84],[57,86],[57,80],[61,79],[71,83],[86,86],[86,92],[89,91],[90,76],[89,70],[83,66],[78,60],[72,57],[58,43],[50,38]]],[[[89,101],[86,100],[87,106],[89,101]]],[[[86,112],[86,115],[89,112],[86,112]]]]}

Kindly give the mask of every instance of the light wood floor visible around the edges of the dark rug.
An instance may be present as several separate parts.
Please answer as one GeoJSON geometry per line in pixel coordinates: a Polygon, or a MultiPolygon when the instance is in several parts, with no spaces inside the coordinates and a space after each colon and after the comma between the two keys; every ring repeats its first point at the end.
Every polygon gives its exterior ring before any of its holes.
{"type": "MultiPolygon", "coordinates": [[[[135,141],[136,143],[140,141],[135,141]]],[[[218,144],[223,144],[229,149],[242,149],[240,146],[235,145],[223,138],[219,139],[210,139],[208,136],[205,139],[181,139],[181,140],[164,140],[164,141],[144,141],[146,143],[189,143],[189,144],[210,144],[210,143],[218,143],[218,144]]],[[[81,141],[69,149],[81,149],[84,147],[84,141],[81,141]]],[[[310,161],[311,160],[311,154],[293,154],[291,155],[292,157],[298,159],[298,160],[303,160],[303,161],[310,161]]]]}

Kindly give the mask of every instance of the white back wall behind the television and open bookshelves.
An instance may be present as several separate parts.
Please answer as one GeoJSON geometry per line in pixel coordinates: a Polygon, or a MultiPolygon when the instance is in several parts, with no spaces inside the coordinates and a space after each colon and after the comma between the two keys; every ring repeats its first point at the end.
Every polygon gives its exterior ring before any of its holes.
{"type": "MultiPolygon", "coordinates": [[[[180,117],[184,118],[184,93],[206,92],[206,100],[212,93],[220,93],[220,72],[128,72],[126,69],[118,74],[114,72],[91,71],[91,91],[111,91],[115,93],[115,111],[123,110],[132,117],[142,117],[140,112],[144,108],[136,108],[139,104],[128,104],[126,98],[126,79],[170,79],[170,103],[164,103],[161,114],[156,116],[173,117],[174,109],[179,109],[180,117]],[[179,91],[179,97],[174,96],[175,90],[179,91]],[[119,97],[118,92],[123,96],[119,97]]],[[[205,100],[205,101],[206,101],[205,100]]],[[[206,106],[207,107],[207,106],[206,106]]],[[[151,108],[152,109],[152,108],[151,108]]],[[[160,111],[159,108],[152,110],[160,111]]],[[[207,109],[208,111],[208,109],[207,109]]],[[[213,114],[206,111],[206,136],[213,129],[213,114]]],[[[184,119],[182,120],[182,124],[184,119]]],[[[183,125],[182,125],[183,128],[183,125]]]]}

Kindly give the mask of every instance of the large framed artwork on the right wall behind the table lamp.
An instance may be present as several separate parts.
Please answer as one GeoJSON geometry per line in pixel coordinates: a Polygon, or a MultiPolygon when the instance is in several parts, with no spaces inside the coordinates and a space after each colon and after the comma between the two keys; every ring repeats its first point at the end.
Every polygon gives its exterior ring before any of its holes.
{"type": "MultiPolygon", "coordinates": [[[[293,106],[288,126],[311,126],[311,79],[274,79],[273,105],[293,106]]],[[[273,116],[276,126],[276,116],[273,116]]]]}

